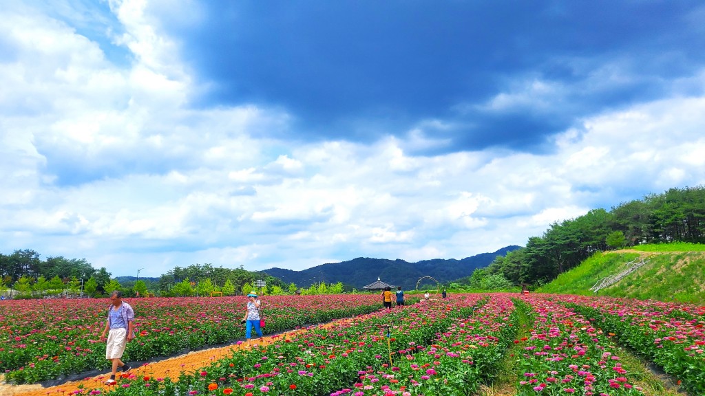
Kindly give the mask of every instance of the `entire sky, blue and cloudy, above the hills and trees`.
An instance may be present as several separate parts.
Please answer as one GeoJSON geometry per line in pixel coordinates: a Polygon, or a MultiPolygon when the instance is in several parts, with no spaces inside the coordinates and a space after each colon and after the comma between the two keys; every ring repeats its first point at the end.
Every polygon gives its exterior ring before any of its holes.
{"type": "Polygon", "coordinates": [[[0,252],[114,275],[523,245],[705,183],[699,1],[0,5],[0,252]]]}

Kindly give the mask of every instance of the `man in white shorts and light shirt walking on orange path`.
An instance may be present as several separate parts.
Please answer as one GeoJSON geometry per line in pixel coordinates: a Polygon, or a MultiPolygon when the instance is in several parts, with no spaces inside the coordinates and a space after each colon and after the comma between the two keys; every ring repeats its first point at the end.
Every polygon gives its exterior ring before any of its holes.
{"type": "Polygon", "coordinates": [[[123,293],[115,290],[110,294],[111,304],[108,307],[108,320],[105,323],[105,329],[100,335],[100,340],[105,340],[105,334],[108,333],[108,343],[105,347],[105,359],[112,361],[113,371],[110,378],[106,380],[107,385],[115,385],[115,375],[118,367],[122,371],[128,371],[130,366],[123,363],[121,358],[125,352],[125,345],[135,338],[135,311],[130,304],[123,302],[123,293]]]}

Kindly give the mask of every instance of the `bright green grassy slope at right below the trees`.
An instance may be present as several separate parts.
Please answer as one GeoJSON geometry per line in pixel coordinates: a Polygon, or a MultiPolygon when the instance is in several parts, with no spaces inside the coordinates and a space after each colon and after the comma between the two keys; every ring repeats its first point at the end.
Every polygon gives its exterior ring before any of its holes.
{"type": "Polygon", "coordinates": [[[642,245],[635,249],[596,253],[537,292],[608,295],[705,303],[705,245],[642,245]],[[638,250],[637,250],[638,249],[638,250]],[[649,262],[611,287],[589,289],[606,276],[623,271],[638,257],[649,262]]]}

